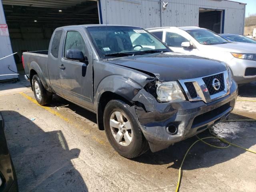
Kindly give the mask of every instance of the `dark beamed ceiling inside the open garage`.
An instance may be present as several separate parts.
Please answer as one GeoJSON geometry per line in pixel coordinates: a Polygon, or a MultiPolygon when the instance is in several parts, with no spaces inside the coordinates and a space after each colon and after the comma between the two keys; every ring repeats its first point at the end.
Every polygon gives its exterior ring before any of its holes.
{"type": "MultiPolygon", "coordinates": [[[[44,7],[36,6],[21,6],[21,5],[9,5],[10,2],[20,2],[24,4],[29,0],[14,1],[8,0],[8,4],[4,3],[7,0],[3,0],[4,12],[6,16],[6,22],[9,28],[20,27],[43,27],[43,28],[56,28],[59,26],[73,25],[73,24],[98,24],[98,5],[96,1],[80,1],[80,0],[62,0],[63,2],[72,2],[68,4],[66,8],[52,8],[45,7],[50,2],[57,2],[57,0],[46,0],[44,7]],[[75,4],[79,2],[79,4],[75,4]],[[61,10],[61,12],[59,11],[61,10]],[[36,22],[35,22],[36,21],[36,22]]],[[[34,2],[30,0],[30,2],[34,2]]],[[[40,1],[36,1],[37,3],[40,1]]],[[[41,1],[43,2],[43,1],[41,1]]],[[[43,4],[43,3],[42,3],[43,4]]],[[[60,1],[56,3],[56,6],[61,5],[60,1]]],[[[42,5],[43,6],[43,5],[42,5]]],[[[67,6],[67,5],[65,5],[67,6]]]]}

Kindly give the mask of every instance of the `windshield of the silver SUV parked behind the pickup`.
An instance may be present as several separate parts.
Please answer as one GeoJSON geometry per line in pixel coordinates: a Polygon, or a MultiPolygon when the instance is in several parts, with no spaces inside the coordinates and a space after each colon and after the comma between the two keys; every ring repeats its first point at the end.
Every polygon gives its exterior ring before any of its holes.
{"type": "Polygon", "coordinates": [[[217,45],[229,43],[228,40],[207,29],[186,30],[193,38],[203,45],[217,45]]]}

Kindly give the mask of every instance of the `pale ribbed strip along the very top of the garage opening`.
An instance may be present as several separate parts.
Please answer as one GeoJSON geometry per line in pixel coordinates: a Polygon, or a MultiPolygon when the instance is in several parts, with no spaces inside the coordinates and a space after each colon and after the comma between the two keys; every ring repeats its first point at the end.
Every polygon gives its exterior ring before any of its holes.
{"type": "Polygon", "coordinates": [[[30,7],[68,8],[80,4],[84,0],[2,0],[4,5],[19,5],[30,7]]]}

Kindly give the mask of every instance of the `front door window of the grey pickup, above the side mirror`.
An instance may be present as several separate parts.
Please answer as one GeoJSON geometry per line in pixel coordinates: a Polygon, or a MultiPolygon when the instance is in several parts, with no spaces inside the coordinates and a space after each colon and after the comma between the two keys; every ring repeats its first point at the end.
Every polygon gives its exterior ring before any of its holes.
{"type": "Polygon", "coordinates": [[[77,49],[82,51],[84,56],[86,55],[86,44],[84,42],[84,39],[82,38],[82,35],[78,31],[68,31],[66,36],[66,42],[65,42],[65,48],[64,48],[64,57],[66,50],[69,49],[77,49]]]}

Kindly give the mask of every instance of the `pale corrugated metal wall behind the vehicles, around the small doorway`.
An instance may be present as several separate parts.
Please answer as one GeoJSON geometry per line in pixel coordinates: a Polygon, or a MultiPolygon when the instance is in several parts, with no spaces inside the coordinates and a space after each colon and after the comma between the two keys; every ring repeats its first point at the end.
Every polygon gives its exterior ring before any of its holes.
{"type": "Polygon", "coordinates": [[[199,8],[225,10],[224,32],[243,34],[245,5],[218,0],[101,0],[103,23],[144,28],[162,26],[198,26],[199,8]],[[162,8],[161,2],[161,8],[162,8]],[[107,11],[107,14],[106,14],[107,11]],[[106,22],[107,18],[107,22],[106,22]]]}

